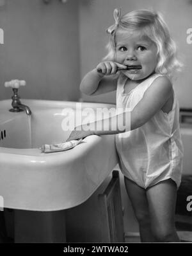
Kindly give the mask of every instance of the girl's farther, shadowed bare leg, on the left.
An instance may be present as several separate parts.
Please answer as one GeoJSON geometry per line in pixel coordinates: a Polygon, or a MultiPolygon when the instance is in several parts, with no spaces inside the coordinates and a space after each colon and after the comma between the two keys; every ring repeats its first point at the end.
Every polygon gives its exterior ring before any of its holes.
{"type": "Polygon", "coordinates": [[[125,188],[140,226],[141,242],[155,242],[151,231],[145,189],[127,178],[125,178],[125,188]]]}

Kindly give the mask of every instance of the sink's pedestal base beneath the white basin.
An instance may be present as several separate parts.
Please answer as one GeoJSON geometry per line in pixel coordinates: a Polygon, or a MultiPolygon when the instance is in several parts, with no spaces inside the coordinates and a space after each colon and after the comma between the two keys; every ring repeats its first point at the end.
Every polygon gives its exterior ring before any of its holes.
{"type": "Polygon", "coordinates": [[[15,242],[66,242],[65,210],[14,210],[15,242]]]}

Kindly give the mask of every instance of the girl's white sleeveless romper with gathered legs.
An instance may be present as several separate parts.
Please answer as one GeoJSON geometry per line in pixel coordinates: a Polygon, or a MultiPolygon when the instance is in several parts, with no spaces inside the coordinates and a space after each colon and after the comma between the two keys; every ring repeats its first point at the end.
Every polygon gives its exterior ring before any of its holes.
{"type": "MultiPolygon", "coordinates": [[[[124,85],[128,78],[121,74],[116,89],[116,113],[126,108],[132,111],[159,76],[157,73],[151,75],[126,94],[124,85]]],[[[171,178],[179,188],[183,147],[179,129],[179,103],[175,93],[170,113],[160,110],[141,127],[126,134],[116,134],[116,149],[122,173],[140,187],[147,188],[171,178]]]]}

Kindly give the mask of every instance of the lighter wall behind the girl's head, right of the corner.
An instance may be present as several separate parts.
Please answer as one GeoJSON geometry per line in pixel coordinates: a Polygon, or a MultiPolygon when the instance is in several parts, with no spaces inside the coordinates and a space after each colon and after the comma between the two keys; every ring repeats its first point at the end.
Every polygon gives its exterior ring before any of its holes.
{"type": "MultiPolygon", "coordinates": [[[[81,77],[106,55],[108,35],[106,28],[114,24],[113,10],[122,8],[122,14],[141,8],[162,12],[173,38],[177,42],[180,58],[185,64],[174,83],[181,107],[192,108],[192,44],[186,42],[188,28],[192,28],[191,0],[81,0],[80,1],[81,77]]],[[[86,101],[115,103],[115,93],[99,96],[83,95],[86,101]]]]}

